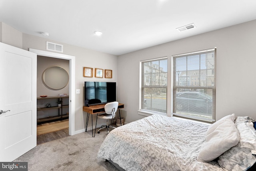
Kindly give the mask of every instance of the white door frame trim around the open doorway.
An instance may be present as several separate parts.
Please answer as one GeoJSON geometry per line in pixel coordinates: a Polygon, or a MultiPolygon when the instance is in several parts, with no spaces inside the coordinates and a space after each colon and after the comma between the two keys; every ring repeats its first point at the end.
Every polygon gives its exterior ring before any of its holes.
{"type": "Polygon", "coordinates": [[[40,56],[47,56],[52,58],[60,58],[69,60],[69,70],[70,70],[70,78],[69,78],[69,121],[68,121],[68,132],[69,135],[75,135],[75,56],[66,55],[66,54],[59,54],[55,52],[48,52],[44,50],[37,50],[29,48],[30,52],[34,52],[40,56]]]}

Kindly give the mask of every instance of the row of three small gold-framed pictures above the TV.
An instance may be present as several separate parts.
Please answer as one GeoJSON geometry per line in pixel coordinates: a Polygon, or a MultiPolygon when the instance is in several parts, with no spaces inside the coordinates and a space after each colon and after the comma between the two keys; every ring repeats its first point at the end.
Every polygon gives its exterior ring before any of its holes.
{"type": "MultiPolygon", "coordinates": [[[[112,78],[112,70],[103,70],[100,68],[95,68],[94,76],[97,78],[103,78],[103,74],[105,74],[105,78],[112,78]],[[104,73],[105,71],[105,73],[104,73]]],[[[84,77],[93,77],[93,68],[84,67],[84,77]]]]}

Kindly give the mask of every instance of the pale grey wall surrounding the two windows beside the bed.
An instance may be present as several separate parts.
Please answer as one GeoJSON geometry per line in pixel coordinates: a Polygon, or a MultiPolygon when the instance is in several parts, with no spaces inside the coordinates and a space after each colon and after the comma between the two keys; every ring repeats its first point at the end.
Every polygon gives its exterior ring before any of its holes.
{"type": "Polygon", "coordinates": [[[118,56],[118,99],[125,104],[123,113],[126,122],[144,117],[138,115],[140,60],[168,56],[168,113],[170,113],[171,56],[213,47],[217,48],[216,120],[232,113],[256,119],[255,27],[256,20],[253,20],[118,56]]]}

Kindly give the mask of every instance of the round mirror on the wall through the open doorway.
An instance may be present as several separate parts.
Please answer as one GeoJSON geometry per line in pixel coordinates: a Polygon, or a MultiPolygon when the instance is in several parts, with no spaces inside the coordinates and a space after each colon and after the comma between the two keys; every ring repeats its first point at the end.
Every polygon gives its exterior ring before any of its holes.
{"type": "Polygon", "coordinates": [[[60,66],[47,68],[42,75],[43,83],[51,89],[62,89],[68,84],[68,72],[60,66]]]}

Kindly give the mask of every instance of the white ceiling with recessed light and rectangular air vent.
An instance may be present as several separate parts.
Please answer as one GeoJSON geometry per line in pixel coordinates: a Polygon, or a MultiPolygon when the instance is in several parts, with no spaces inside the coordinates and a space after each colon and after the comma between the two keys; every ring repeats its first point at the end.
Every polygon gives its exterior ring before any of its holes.
{"type": "Polygon", "coordinates": [[[0,22],[20,32],[114,55],[255,19],[256,0],[0,0],[0,22]]]}

